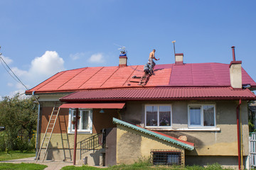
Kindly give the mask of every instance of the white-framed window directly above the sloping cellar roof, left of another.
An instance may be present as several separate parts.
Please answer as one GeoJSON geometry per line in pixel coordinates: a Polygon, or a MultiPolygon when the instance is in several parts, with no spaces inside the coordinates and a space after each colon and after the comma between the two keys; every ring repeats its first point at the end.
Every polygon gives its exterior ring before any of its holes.
{"type": "Polygon", "coordinates": [[[146,105],[145,120],[146,127],[171,126],[171,106],[146,105]]]}

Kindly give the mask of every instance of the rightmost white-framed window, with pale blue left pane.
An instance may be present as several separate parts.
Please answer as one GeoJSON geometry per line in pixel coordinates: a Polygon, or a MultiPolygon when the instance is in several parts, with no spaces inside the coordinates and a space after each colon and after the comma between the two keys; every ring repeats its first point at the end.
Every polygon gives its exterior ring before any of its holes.
{"type": "Polygon", "coordinates": [[[188,106],[189,127],[215,127],[215,105],[188,106]]]}

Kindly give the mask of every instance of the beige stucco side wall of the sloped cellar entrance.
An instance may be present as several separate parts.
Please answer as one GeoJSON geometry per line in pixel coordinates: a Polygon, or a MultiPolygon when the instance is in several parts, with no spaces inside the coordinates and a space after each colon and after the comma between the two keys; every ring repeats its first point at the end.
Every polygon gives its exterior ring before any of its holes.
{"type": "Polygon", "coordinates": [[[117,164],[132,164],[138,159],[148,159],[151,156],[151,149],[178,150],[184,154],[182,147],[117,125],[117,164]]]}

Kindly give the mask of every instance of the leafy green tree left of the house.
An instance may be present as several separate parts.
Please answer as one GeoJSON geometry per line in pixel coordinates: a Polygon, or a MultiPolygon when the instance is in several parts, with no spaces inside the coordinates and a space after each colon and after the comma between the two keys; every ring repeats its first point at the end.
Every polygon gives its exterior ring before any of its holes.
{"type": "Polygon", "coordinates": [[[0,149],[24,150],[34,148],[36,132],[37,104],[33,98],[21,98],[19,94],[10,98],[5,96],[0,101],[0,125],[5,127],[1,132],[0,149]],[[5,148],[4,148],[5,147],[5,148]]]}

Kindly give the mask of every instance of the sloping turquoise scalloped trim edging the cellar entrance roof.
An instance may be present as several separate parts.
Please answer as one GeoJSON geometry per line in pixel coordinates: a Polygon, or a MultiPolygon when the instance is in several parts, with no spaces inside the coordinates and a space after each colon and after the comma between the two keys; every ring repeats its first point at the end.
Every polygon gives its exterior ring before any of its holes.
{"type": "Polygon", "coordinates": [[[131,123],[124,122],[124,121],[119,120],[117,118],[113,118],[113,123],[116,123],[116,124],[119,124],[119,125],[123,125],[123,126],[125,126],[127,128],[131,128],[131,129],[137,130],[139,132],[143,132],[146,135],[150,135],[150,136],[159,138],[160,140],[171,142],[174,145],[178,145],[178,146],[184,147],[184,148],[186,148],[188,150],[193,150],[194,149],[193,143],[191,143],[191,145],[188,145],[188,144],[186,144],[184,142],[181,142],[181,141],[178,141],[178,140],[174,140],[174,139],[172,139],[170,137],[166,137],[164,135],[160,135],[160,134],[158,134],[156,132],[152,132],[151,130],[146,130],[144,128],[140,128],[137,125],[132,125],[131,123]]]}

